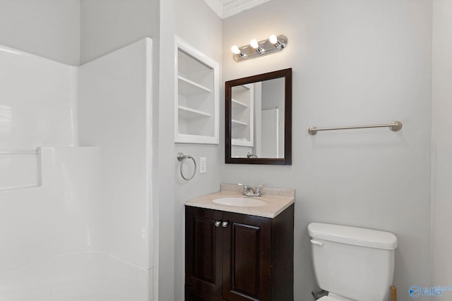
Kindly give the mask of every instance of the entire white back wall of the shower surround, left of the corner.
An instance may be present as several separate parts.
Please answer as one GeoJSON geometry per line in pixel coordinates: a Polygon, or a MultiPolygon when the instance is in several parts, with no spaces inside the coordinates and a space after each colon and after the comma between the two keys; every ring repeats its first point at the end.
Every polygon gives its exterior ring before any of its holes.
{"type": "Polygon", "coordinates": [[[98,149],[75,147],[76,67],[4,46],[0,66],[0,300],[20,300],[11,273],[92,250],[98,149]]]}

